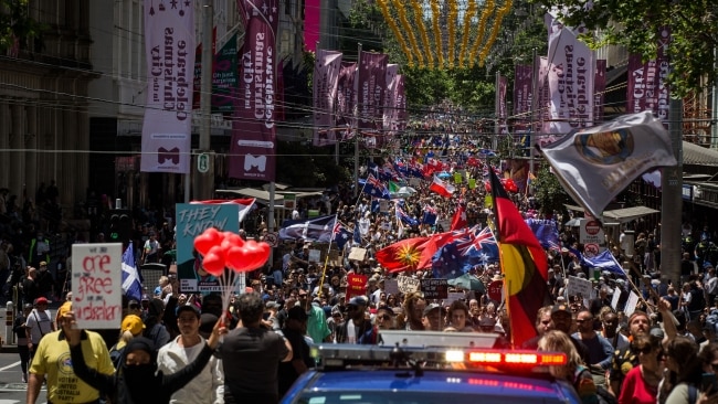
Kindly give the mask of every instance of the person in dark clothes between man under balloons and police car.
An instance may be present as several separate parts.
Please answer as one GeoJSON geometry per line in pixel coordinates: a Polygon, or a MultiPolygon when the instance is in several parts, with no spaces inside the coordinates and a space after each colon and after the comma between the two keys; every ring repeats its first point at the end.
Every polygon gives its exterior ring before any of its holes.
{"type": "Polygon", "coordinates": [[[309,344],[304,336],[307,332],[307,312],[300,307],[293,307],[287,311],[287,320],[282,329],[282,334],[292,344],[292,361],[279,363],[278,383],[279,396],[292,387],[292,384],[310,368],[315,366],[309,353],[309,344]]]}

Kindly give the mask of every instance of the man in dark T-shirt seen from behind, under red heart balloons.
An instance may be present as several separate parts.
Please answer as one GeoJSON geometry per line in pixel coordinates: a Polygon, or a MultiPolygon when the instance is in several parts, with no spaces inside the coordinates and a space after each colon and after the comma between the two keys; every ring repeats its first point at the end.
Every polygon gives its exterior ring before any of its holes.
{"type": "Polygon", "coordinates": [[[277,403],[279,362],[293,358],[292,344],[262,326],[264,302],[256,293],[237,299],[242,326],[224,338],[220,348],[224,370],[224,402],[277,403]]]}

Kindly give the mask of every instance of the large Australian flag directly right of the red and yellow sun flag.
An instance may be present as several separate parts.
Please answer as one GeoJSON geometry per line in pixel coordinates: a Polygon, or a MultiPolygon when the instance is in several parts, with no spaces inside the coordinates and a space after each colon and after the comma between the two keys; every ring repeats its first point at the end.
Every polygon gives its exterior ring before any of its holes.
{"type": "Polygon", "coordinates": [[[432,257],[435,278],[453,279],[475,265],[498,261],[498,244],[489,227],[474,226],[453,234],[432,257]]]}

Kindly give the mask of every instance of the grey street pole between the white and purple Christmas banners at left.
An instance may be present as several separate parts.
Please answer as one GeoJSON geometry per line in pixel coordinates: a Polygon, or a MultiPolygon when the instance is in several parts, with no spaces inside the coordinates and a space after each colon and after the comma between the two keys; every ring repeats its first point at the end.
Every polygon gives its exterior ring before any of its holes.
{"type": "Polygon", "coordinates": [[[200,86],[200,149],[194,156],[194,200],[213,199],[214,153],[211,150],[212,132],[212,31],[214,26],[212,0],[202,2],[202,75],[200,86]],[[200,161],[201,160],[201,161],[200,161]]]}

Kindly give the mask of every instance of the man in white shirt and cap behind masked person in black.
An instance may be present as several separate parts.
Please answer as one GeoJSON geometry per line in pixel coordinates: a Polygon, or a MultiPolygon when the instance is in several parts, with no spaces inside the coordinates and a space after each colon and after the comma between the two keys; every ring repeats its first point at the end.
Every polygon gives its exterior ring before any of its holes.
{"type": "MultiPolygon", "coordinates": [[[[177,308],[177,327],[180,334],[157,353],[157,369],[165,374],[175,374],[194,361],[204,348],[205,339],[200,331],[200,310],[194,305],[177,308]]],[[[222,402],[224,397],[224,373],[222,360],[215,357],[202,368],[189,383],[170,397],[175,404],[222,402]]]]}

